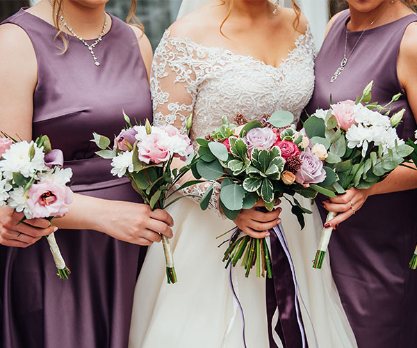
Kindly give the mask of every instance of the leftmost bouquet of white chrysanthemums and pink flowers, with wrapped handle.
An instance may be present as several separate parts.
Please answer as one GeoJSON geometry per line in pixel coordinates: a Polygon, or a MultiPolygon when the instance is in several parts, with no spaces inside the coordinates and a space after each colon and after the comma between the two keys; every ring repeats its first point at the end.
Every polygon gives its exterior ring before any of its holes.
{"type": "MultiPolygon", "coordinates": [[[[63,169],[63,152],[52,150],[47,136],[35,141],[16,141],[1,133],[0,138],[0,207],[23,212],[26,219],[48,219],[63,216],[72,203],[72,191],[67,184],[70,168],[63,169]]],[[[70,270],[56,243],[54,233],[47,236],[58,276],[68,279],[70,270]]]]}

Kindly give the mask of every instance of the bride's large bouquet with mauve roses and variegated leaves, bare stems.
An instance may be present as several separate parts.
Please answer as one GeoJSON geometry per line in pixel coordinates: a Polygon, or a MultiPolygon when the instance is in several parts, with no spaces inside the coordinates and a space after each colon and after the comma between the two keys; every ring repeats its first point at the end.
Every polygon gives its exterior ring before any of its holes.
{"type": "MultiPolygon", "coordinates": [[[[305,198],[315,198],[317,193],[335,196],[325,189],[336,181],[336,174],[325,167],[327,149],[318,139],[297,132],[291,123],[293,115],[277,111],[272,116],[247,122],[238,115],[236,125],[223,125],[199,143],[197,174],[206,180],[221,182],[220,207],[227,218],[234,220],[241,209],[250,209],[263,200],[264,209],[271,211],[278,198],[292,205],[292,212],[304,228],[303,214],[311,214],[295,198],[299,193],[305,198]],[[288,199],[286,196],[291,196],[288,199]]],[[[211,186],[203,196],[200,206],[206,209],[213,194],[211,186]]],[[[279,227],[280,228],[280,227],[279,227]]],[[[266,239],[240,236],[236,228],[224,253],[226,268],[236,266],[243,258],[249,276],[256,264],[257,277],[272,277],[270,251],[266,239]]],[[[275,231],[277,235],[279,231],[275,231]]]]}

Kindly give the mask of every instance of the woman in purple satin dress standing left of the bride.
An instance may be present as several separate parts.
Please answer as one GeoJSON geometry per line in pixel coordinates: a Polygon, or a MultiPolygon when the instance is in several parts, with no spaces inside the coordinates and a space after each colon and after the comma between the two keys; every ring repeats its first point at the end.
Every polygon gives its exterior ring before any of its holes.
{"type": "Polygon", "coordinates": [[[54,227],[43,219],[17,226],[22,214],[0,209],[3,348],[127,347],[144,246],[161,240],[156,232],[172,237],[171,217],[140,204],[90,142],[93,131],[122,129],[122,108],[137,120],[152,117],[149,40],[105,13],[105,4],[42,0],[0,26],[1,130],[27,140],[48,134],[77,193],[67,216],[54,220],[72,271],[67,281],[39,240],[54,227]]]}

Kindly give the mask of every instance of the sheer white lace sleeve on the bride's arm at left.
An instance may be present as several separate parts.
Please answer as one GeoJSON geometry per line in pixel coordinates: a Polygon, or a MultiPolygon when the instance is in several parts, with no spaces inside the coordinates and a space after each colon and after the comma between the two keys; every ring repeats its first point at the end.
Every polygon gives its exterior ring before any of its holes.
{"type": "MultiPolygon", "coordinates": [[[[199,79],[208,65],[204,58],[204,54],[188,46],[186,40],[172,38],[170,31],[165,31],[154,54],[150,79],[154,125],[174,125],[180,132],[187,132],[186,121],[193,113],[199,79]]],[[[182,165],[176,162],[176,166],[182,165]]],[[[195,180],[191,173],[181,179],[177,188],[188,180],[195,180]]],[[[196,184],[181,193],[202,197],[210,186],[209,182],[196,184]]],[[[219,193],[220,184],[216,182],[209,207],[220,214],[219,193]]],[[[199,198],[193,199],[199,202],[199,198]]]]}

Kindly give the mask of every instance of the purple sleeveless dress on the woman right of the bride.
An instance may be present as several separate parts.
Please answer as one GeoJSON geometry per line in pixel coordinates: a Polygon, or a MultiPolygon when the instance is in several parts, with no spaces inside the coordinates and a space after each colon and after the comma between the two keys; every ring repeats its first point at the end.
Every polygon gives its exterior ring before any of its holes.
{"type": "MultiPolygon", "coordinates": [[[[366,31],[345,70],[330,83],[345,49],[350,12],[334,22],[316,59],[316,89],[307,112],[333,102],[355,100],[374,80],[373,101],[386,104],[403,93],[393,113],[406,109],[398,127],[402,139],[414,139],[416,120],[397,76],[397,58],[405,29],[416,15],[366,31]]],[[[361,32],[349,32],[347,52],[361,32]]],[[[417,40],[416,40],[417,45],[417,40]]],[[[334,281],[360,348],[417,347],[417,273],[408,267],[417,243],[417,189],[370,196],[363,207],[333,233],[329,245],[334,281]]],[[[320,206],[322,218],[327,211],[320,206]]]]}

